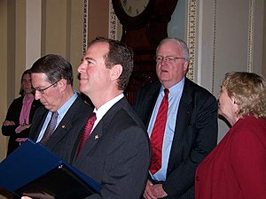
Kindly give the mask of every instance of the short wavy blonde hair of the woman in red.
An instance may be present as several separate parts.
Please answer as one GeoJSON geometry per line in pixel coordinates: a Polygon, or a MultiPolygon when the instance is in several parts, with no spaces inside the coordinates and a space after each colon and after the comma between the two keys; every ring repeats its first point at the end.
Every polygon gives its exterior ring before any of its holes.
{"type": "Polygon", "coordinates": [[[261,76],[246,72],[226,73],[222,83],[228,96],[239,104],[239,118],[253,114],[257,119],[266,119],[265,85],[261,76]]]}

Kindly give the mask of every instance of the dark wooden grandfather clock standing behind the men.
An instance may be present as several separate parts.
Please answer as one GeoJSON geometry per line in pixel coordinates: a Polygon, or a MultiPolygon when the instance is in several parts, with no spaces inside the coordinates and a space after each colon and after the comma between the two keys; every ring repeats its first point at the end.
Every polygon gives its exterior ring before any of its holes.
{"type": "Polygon", "coordinates": [[[177,0],[112,0],[122,25],[121,42],[134,50],[134,70],[127,96],[134,101],[139,86],[155,80],[155,50],[168,36],[167,27],[177,0]]]}

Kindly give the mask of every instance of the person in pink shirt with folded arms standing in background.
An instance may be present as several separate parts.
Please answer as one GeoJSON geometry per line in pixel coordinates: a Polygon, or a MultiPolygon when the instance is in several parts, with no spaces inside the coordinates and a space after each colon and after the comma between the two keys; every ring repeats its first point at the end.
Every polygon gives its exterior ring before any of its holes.
{"type": "Polygon", "coordinates": [[[26,70],[21,76],[20,97],[12,101],[2,125],[2,134],[10,137],[7,156],[27,139],[34,113],[41,105],[34,99],[30,71],[26,70]]]}

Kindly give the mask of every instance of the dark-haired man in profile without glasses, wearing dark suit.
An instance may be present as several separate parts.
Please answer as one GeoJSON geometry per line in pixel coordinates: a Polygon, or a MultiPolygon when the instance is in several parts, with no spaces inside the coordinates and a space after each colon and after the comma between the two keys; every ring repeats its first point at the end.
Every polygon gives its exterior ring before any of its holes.
{"type": "Polygon", "coordinates": [[[144,191],[149,138],[123,95],[132,70],[132,50],[104,38],[90,43],[78,68],[80,90],[94,104],[96,121],[74,166],[102,186],[100,195],[88,198],[137,199],[144,191]]]}

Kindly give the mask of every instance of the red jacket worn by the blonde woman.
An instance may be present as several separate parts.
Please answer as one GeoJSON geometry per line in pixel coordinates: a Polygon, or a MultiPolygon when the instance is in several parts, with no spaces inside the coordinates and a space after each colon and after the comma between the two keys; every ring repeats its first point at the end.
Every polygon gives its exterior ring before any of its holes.
{"type": "Polygon", "coordinates": [[[202,161],[196,199],[266,198],[266,121],[239,119],[202,161]]]}

